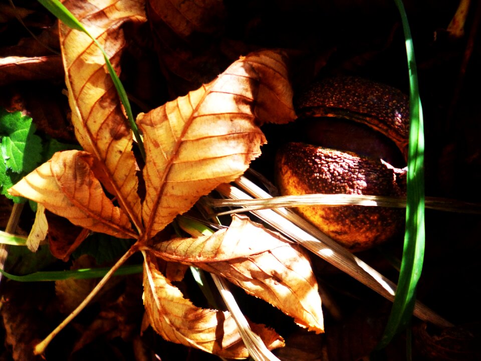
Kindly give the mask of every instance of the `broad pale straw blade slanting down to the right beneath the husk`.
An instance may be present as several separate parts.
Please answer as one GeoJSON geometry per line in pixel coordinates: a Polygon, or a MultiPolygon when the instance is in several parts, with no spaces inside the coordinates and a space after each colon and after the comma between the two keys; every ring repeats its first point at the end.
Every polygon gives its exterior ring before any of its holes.
{"type": "MultiPolygon", "coordinates": [[[[242,188],[255,198],[270,198],[269,194],[245,177],[240,177],[235,183],[239,188],[242,188]]],[[[230,199],[252,198],[242,190],[227,184],[219,186],[217,191],[230,199]]],[[[285,208],[277,208],[274,210],[252,211],[252,213],[267,224],[275,227],[279,232],[331,263],[333,266],[376,291],[381,296],[390,301],[394,300],[396,292],[395,283],[391,282],[292,211],[285,208]]],[[[450,322],[418,301],[415,303],[413,314],[421,320],[433,323],[439,327],[453,326],[450,322]]]]}

